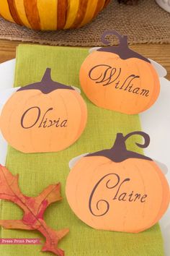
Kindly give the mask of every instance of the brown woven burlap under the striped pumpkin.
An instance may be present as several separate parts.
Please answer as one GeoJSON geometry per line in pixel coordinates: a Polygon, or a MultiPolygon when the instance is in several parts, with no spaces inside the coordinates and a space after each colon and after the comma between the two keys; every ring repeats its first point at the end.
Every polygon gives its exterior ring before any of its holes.
{"type": "Polygon", "coordinates": [[[0,18],[1,39],[53,46],[101,46],[100,36],[104,30],[128,34],[130,44],[170,43],[170,14],[158,7],[155,0],[140,0],[133,7],[112,0],[96,20],[79,30],[33,31],[0,18]]]}

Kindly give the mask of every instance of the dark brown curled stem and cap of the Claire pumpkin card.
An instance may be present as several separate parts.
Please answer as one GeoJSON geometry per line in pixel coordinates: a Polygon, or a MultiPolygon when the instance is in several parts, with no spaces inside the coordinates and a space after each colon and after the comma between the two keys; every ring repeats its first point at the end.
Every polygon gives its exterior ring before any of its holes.
{"type": "Polygon", "coordinates": [[[117,133],[115,144],[113,145],[112,148],[97,151],[95,153],[85,155],[84,157],[86,158],[86,157],[95,156],[95,155],[104,156],[114,161],[115,163],[120,163],[122,161],[125,161],[128,158],[138,158],[138,159],[153,161],[151,158],[148,158],[148,156],[146,155],[141,155],[140,153],[136,153],[126,149],[125,140],[127,140],[128,137],[131,137],[132,135],[141,135],[145,138],[145,143],[143,145],[139,143],[135,143],[136,145],[138,145],[139,148],[148,147],[150,138],[145,132],[130,132],[125,137],[122,135],[122,133],[117,133]]]}

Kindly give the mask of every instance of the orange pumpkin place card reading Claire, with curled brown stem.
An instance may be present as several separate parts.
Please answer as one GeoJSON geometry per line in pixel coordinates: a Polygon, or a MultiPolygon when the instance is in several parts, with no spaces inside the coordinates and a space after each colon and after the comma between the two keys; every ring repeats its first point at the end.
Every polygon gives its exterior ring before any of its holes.
{"type": "Polygon", "coordinates": [[[118,133],[111,149],[82,157],[68,175],[68,204],[94,229],[137,233],[158,222],[168,208],[169,184],[160,168],[125,147],[132,135],[145,138],[144,145],[136,143],[140,148],[148,146],[144,132],[118,133]]]}

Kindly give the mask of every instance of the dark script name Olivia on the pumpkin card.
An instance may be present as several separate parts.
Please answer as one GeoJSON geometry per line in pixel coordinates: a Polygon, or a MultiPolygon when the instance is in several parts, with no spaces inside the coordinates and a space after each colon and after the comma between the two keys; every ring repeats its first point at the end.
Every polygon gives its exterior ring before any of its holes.
{"type": "Polygon", "coordinates": [[[48,108],[45,113],[42,113],[41,109],[38,106],[33,106],[32,108],[28,108],[27,111],[24,112],[21,118],[21,126],[24,129],[30,129],[32,127],[38,128],[49,128],[49,127],[67,127],[68,120],[62,120],[60,117],[58,119],[51,120],[48,118],[48,114],[50,111],[53,111],[53,108],[48,108]],[[37,111],[37,115],[35,115],[35,111],[37,111]],[[30,123],[28,124],[27,116],[35,116],[30,123]]]}

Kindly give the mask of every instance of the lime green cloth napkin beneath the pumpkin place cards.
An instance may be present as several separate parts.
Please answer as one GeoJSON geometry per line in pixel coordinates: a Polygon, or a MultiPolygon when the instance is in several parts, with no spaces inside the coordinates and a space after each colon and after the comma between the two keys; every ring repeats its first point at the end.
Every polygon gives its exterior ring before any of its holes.
{"type": "MultiPolygon", "coordinates": [[[[79,69],[88,55],[86,48],[20,45],[17,48],[17,66],[14,86],[24,86],[42,79],[47,67],[52,78],[66,85],[80,87],[79,69]]],[[[9,74],[10,75],[10,74],[9,74]]],[[[81,92],[88,108],[88,122],[83,135],[76,143],[58,153],[24,154],[8,148],[6,167],[12,174],[19,174],[19,187],[27,196],[37,196],[49,184],[61,182],[63,200],[55,202],[45,212],[45,221],[53,229],[69,228],[69,234],[59,247],[66,256],[162,256],[164,255],[161,231],[156,224],[139,234],[113,231],[97,231],[79,220],[68,205],[65,195],[68,162],[82,153],[110,148],[117,132],[124,135],[140,130],[138,115],[108,111],[98,108],[81,92]]],[[[76,118],[76,116],[75,116],[76,118]]],[[[127,142],[128,149],[142,152],[135,145],[140,141],[133,136],[127,142]]],[[[80,170],[81,171],[81,170],[80,170]]],[[[1,201],[1,219],[21,219],[22,210],[12,202],[1,201]]],[[[1,238],[38,238],[38,231],[1,229],[1,238]]],[[[40,252],[41,245],[1,245],[1,256],[52,255],[40,252]]]]}

